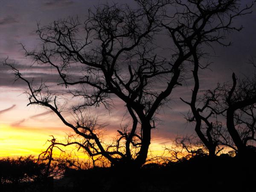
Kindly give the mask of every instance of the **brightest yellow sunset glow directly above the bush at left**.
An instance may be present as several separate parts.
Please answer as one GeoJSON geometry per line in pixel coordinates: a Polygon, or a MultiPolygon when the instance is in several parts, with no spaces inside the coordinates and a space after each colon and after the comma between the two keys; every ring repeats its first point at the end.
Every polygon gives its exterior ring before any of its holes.
{"type": "MultiPolygon", "coordinates": [[[[46,143],[47,140],[52,138],[49,135],[47,129],[0,124],[0,157],[38,156],[49,146],[50,143],[46,143]]],[[[58,140],[64,140],[65,138],[63,131],[54,135],[58,140]]],[[[71,147],[65,149],[70,150],[71,147]]],[[[60,152],[55,150],[56,154],[60,152]]],[[[85,154],[78,152],[78,156],[82,158],[85,157],[85,154]]]]}

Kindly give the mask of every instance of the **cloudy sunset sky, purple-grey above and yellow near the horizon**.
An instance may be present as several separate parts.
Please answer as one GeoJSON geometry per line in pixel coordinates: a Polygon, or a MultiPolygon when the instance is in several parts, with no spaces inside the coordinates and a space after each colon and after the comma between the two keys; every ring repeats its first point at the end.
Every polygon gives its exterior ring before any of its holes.
{"type": "MultiPolygon", "coordinates": [[[[88,9],[101,3],[97,0],[0,0],[0,60],[9,58],[16,66],[26,71],[32,61],[24,57],[20,43],[27,49],[33,49],[38,44],[35,34],[37,23],[47,25],[54,20],[69,16],[85,18],[88,9]]],[[[111,1],[112,2],[112,1],[111,1]]],[[[132,0],[118,1],[133,4],[132,0]]],[[[249,0],[243,0],[244,6],[249,0]]],[[[250,76],[252,71],[248,61],[256,56],[256,9],[253,13],[239,17],[234,21],[236,26],[242,25],[241,32],[227,35],[231,47],[214,45],[213,49],[206,48],[209,54],[211,70],[200,73],[201,88],[213,88],[218,82],[230,81],[232,72],[237,76],[250,76]]],[[[164,42],[164,40],[161,40],[164,42]]],[[[49,68],[33,68],[33,75],[47,78],[49,68]]],[[[28,69],[29,70],[29,69],[28,69]]],[[[49,76],[48,80],[51,82],[49,76]]],[[[28,99],[24,93],[26,85],[14,82],[12,71],[0,64],[0,157],[37,155],[47,147],[46,141],[51,135],[59,140],[71,131],[50,111],[38,106],[26,106],[28,99]]],[[[177,89],[172,96],[169,108],[163,108],[158,118],[157,127],[152,132],[151,150],[163,151],[163,146],[172,143],[177,135],[191,134],[193,128],[183,117],[189,110],[180,101],[179,96],[188,96],[191,88],[188,85],[177,89]],[[187,94],[187,95],[186,95],[187,94]]],[[[123,116],[124,104],[116,102],[110,113],[101,109],[93,109],[92,113],[99,115],[102,122],[111,126],[106,128],[106,137],[111,138],[119,128],[123,116]]]]}

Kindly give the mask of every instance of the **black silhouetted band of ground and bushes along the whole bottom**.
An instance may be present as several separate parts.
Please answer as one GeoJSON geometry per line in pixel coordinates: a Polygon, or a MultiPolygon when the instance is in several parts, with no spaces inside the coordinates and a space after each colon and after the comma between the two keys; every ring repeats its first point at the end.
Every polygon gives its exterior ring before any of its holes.
{"type": "MultiPolygon", "coordinates": [[[[140,169],[94,167],[73,169],[61,165],[61,177],[47,172],[46,163],[33,157],[0,161],[2,192],[250,192],[255,190],[255,158],[222,154],[215,158],[195,155],[189,160],[148,163],[140,169]],[[64,168],[64,169],[63,169],[64,168]]],[[[52,169],[53,170],[53,169],[52,169]]],[[[55,167],[56,170],[56,167],[55,167]]]]}

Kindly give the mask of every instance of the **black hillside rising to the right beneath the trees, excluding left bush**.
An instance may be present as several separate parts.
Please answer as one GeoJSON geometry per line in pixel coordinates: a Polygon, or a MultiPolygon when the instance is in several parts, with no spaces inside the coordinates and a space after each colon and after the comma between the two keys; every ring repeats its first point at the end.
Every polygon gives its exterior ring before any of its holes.
{"type": "Polygon", "coordinates": [[[253,191],[255,157],[242,159],[223,154],[195,156],[168,164],[146,164],[141,169],[69,169],[55,181],[53,191],[96,192],[249,192],[253,191]],[[85,183],[90,183],[85,185],[85,183]]]}

